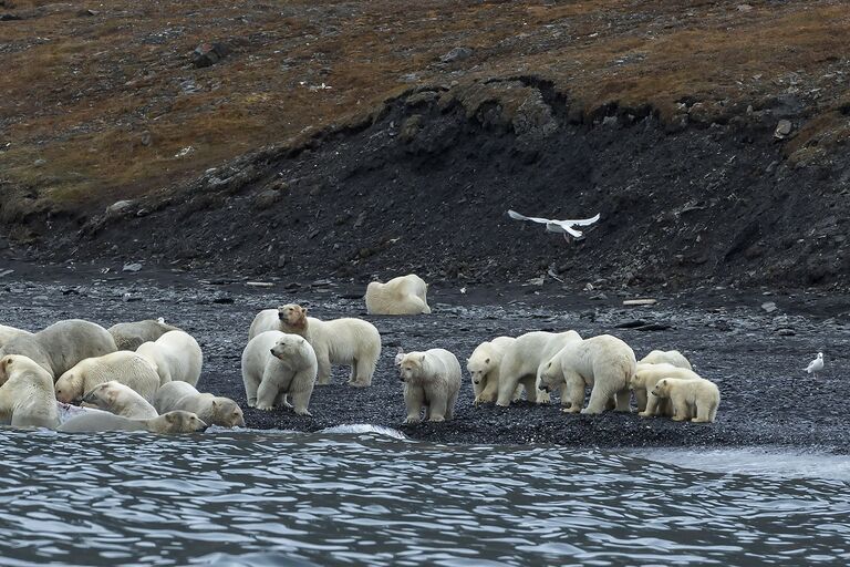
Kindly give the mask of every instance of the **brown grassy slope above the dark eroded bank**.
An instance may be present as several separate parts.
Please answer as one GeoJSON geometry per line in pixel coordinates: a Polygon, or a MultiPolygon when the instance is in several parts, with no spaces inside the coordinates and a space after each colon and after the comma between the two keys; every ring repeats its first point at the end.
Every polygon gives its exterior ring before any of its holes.
{"type": "Polygon", "coordinates": [[[416,84],[477,78],[537,75],[585,113],[620,102],[666,118],[682,100],[724,120],[791,93],[809,117],[787,146],[796,158],[850,136],[840,0],[114,0],[94,16],[85,2],[14,3],[0,8],[24,17],[0,22],[0,183],[52,208],[156,189],[416,84]],[[194,69],[201,41],[234,53],[194,69]],[[473,55],[439,62],[458,45],[473,55]]]}

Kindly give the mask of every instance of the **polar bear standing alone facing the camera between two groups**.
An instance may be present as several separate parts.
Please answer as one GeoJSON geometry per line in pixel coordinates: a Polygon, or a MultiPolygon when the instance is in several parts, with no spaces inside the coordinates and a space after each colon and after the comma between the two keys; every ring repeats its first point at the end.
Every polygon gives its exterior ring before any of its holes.
{"type": "Polygon", "coordinates": [[[460,362],[445,349],[408,352],[400,363],[398,374],[404,382],[405,423],[422,420],[426,406],[428,421],[450,420],[457,394],[460,392],[460,362]]]}

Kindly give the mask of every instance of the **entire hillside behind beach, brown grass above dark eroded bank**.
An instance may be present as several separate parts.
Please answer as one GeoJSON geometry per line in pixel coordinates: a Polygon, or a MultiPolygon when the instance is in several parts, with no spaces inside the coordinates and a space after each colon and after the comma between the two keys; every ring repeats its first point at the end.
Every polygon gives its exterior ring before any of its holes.
{"type": "Polygon", "coordinates": [[[850,12],[687,6],[2,0],[7,254],[846,287],[850,12]]]}

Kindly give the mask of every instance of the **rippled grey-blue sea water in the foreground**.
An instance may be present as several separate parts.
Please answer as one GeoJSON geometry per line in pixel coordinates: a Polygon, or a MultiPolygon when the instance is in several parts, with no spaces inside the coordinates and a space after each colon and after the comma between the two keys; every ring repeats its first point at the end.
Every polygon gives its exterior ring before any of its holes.
{"type": "Polygon", "coordinates": [[[0,564],[850,563],[837,457],[398,437],[2,431],[0,564]]]}

